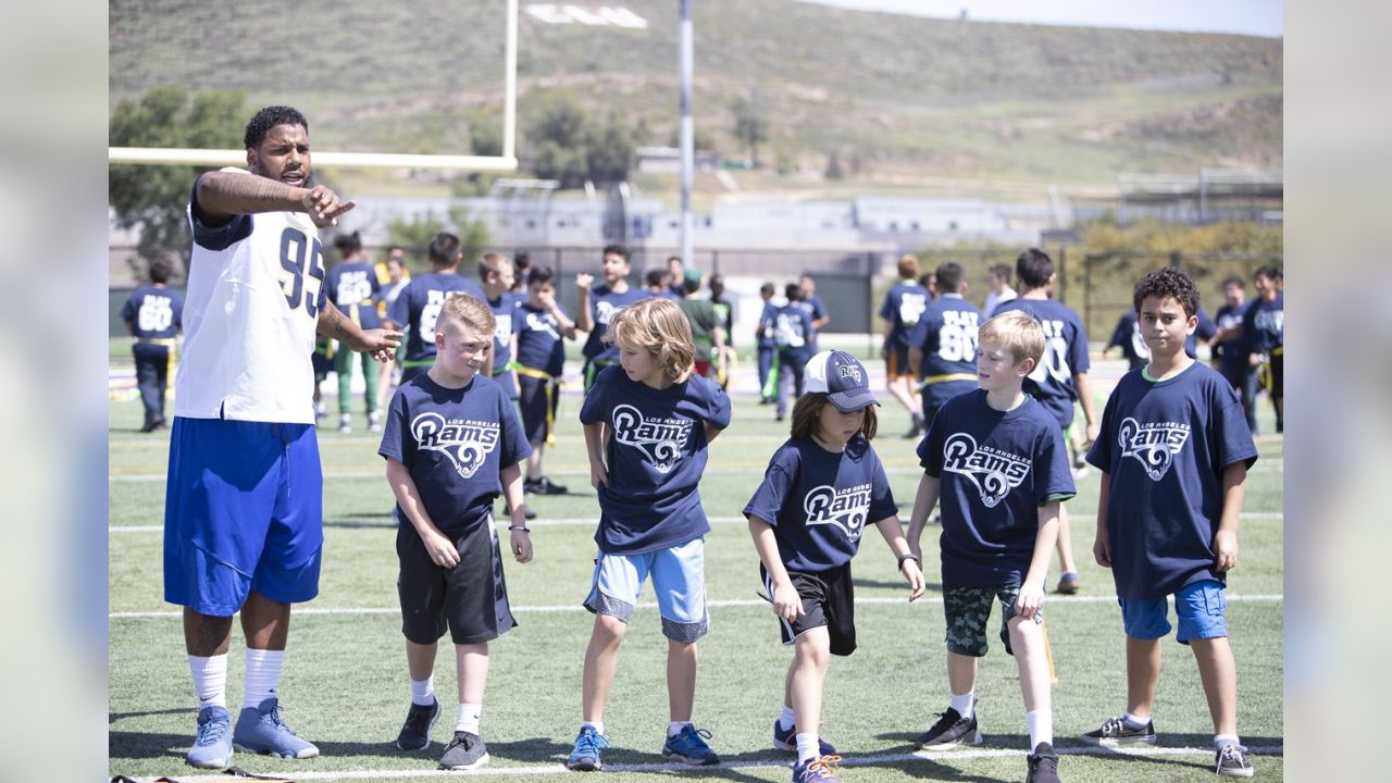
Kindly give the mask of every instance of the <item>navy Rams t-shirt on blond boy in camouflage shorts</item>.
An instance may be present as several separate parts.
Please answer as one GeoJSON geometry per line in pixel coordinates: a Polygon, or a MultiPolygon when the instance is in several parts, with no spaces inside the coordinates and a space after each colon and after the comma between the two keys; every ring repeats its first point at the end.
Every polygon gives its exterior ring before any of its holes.
{"type": "Polygon", "coordinates": [[[919,464],[941,479],[942,587],[1023,582],[1040,506],[1077,493],[1058,422],[1026,397],[997,411],[986,392],[954,397],[919,443],[919,464]]]}

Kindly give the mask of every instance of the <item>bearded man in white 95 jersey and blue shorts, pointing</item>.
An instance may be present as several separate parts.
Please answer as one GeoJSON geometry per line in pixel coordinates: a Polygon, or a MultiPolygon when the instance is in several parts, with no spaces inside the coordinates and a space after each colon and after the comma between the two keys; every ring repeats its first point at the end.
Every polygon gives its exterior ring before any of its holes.
{"type": "Polygon", "coordinates": [[[388,361],[400,332],[363,330],[323,288],[319,228],[354,202],[310,184],[309,123],[287,106],[246,125],[246,171],[202,174],[189,201],[193,254],[175,379],[164,507],[164,600],[184,606],[198,691],[188,762],[226,768],[232,747],[319,755],[280,720],[290,606],[319,592],[323,474],[310,403],[315,334],[388,361]],[[227,709],[232,614],[246,637],[246,692],[227,709]]]}

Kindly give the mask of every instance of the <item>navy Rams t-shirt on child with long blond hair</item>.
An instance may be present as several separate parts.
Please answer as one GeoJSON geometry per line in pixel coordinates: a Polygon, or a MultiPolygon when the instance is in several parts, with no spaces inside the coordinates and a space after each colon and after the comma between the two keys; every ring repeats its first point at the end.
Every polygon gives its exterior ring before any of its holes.
{"type": "Polygon", "coordinates": [[[729,426],[729,397],[718,385],[692,376],[653,389],[608,366],[580,405],[580,424],[596,422],[608,436],[600,552],[656,552],[710,532],[696,485],[706,471],[706,425],[729,426]]]}

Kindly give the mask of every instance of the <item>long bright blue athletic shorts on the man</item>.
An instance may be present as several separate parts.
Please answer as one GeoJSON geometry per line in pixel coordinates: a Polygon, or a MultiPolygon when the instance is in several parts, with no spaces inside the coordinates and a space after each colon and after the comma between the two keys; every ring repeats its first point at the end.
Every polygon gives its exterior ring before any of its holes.
{"type": "Polygon", "coordinates": [[[324,478],[312,424],[174,418],[164,600],[227,617],[256,591],[319,595],[324,478]]]}

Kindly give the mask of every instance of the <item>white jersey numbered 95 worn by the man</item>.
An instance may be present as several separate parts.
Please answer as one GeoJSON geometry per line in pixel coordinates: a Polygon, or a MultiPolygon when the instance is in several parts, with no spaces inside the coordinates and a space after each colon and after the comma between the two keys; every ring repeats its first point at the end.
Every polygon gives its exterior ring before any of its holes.
{"type": "Polygon", "coordinates": [[[319,228],[308,215],[193,219],[174,415],[313,424],[315,327],[324,305],[319,228]]]}

